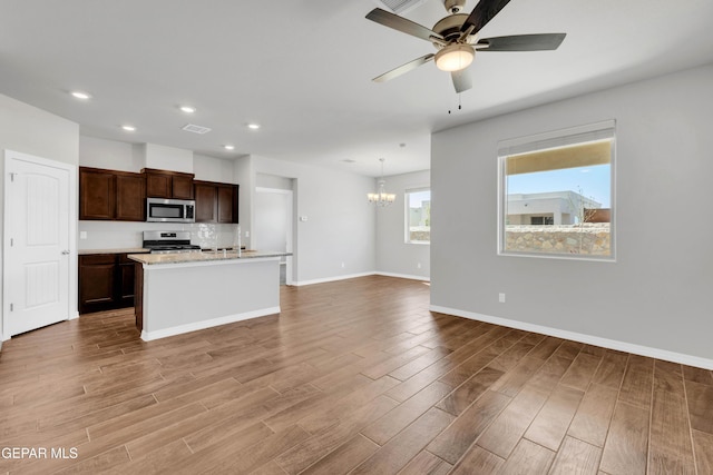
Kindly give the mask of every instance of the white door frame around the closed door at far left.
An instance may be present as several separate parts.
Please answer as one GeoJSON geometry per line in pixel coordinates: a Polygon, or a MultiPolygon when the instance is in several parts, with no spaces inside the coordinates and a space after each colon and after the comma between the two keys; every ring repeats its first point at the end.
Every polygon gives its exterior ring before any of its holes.
{"type": "Polygon", "coordinates": [[[10,232],[8,231],[10,218],[7,209],[9,198],[8,185],[10,184],[10,172],[8,171],[8,168],[9,164],[12,160],[25,161],[41,167],[58,168],[60,170],[66,170],[67,175],[69,176],[69,216],[67,217],[67,219],[69,220],[67,227],[69,232],[69,285],[67,286],[67,291],[69,293],[69,295],[67,298],[67,305],[69,306],[69,308],[67,309],[67,315],[69,316],[69,319],[79,317],[79,311],[77,309],[77,166],[8,149],[3,150],[2,157],[2,174],[4,178],[2,180],[2,256],[0,256],[2,265],[2,295],[0,295],[0,300],[2,301],[2,315],[0,316],[0,345],[2,345],[2,342],[10,339],[10,335],[8,335],[8,331],[6,331],[4,324],[6,315],[10,315],[10,303],[6,298],[9,289],[8,279],[6,278],[8,269],[6,268],[4,256],[8,255],[8,251],[10,249],[10,232]]]}

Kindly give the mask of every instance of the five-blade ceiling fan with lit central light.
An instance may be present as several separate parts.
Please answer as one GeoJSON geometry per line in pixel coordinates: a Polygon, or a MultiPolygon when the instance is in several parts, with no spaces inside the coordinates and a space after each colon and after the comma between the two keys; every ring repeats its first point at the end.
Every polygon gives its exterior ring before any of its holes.
{"type": "Polygon", "coordinates": [[[547,51],[555,50],[565,39],[566,33],[515,34],[508,37],[479,38],[478,32],[505,8],[510,0],[480,0],[470,14],[461,13],[466,0],[442,0],[448,17],[439,20],[432,29],[428,29],[398,14],[375,8],[367,18],[384,27],[393,28],[407,34],[430,41],[438,51],[428,53],[401,65],[389,72],[373,79],[375,82],[388,81],[404,72],[411,71],[430,60],[436,60],[438,69],[449,71],[456,92],[467,91],[472,87],[467,70],[478,51],[547,51]]]}

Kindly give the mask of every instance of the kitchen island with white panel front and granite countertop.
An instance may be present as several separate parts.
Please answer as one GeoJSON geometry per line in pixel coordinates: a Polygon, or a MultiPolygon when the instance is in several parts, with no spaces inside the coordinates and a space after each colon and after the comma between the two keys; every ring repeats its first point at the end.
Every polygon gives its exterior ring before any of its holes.
{"type": "Polygon", "coordinates": [[[136,254],[136,326],[149,342],[280,313],[280,259],[257,250],[136,254]]]}

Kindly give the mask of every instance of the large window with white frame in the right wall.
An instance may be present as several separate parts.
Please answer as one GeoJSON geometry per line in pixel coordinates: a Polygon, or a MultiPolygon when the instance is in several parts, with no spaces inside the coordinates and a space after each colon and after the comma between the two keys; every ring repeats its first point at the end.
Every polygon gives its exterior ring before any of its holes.
{"type": "Polygon", "coordinates": [[[614,128],[498,145],[498,254],[614,260],[614,128]]]}

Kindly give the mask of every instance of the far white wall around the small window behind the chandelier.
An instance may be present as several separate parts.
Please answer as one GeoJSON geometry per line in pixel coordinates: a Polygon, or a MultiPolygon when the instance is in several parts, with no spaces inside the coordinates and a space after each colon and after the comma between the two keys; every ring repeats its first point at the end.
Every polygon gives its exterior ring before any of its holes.
{"type": "MultiPolygon", "coordinates": [[[[407,244],[406,202],[408,189],[429,188],[429,170],[385,177],[385,189],[397,196],[393,205],[377,209],[377,269],[380,274],[428,280],[430,245],[407,244]],[[419,268],[420,264],[420,268],[419,268]]],[[[377,181],[372,184],[375,190],[377,181]]],[[[433,198],[431,196],[431,199],[433,198]]]]}

